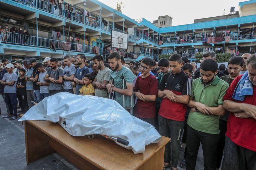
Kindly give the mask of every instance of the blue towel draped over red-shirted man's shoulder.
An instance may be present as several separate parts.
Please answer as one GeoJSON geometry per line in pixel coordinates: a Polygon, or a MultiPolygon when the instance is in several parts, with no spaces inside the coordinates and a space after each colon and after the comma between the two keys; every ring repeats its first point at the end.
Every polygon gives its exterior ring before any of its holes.
{"type": "Polygon", "coordinates": [[[249,79],[248,70],[244,73],[244,75],[238,82],[238,85],[236,85],[232,98],[234,100],[244,101],[244,98],[247,95],[249,96],[253,95],[253,87],[249,79]]]}

